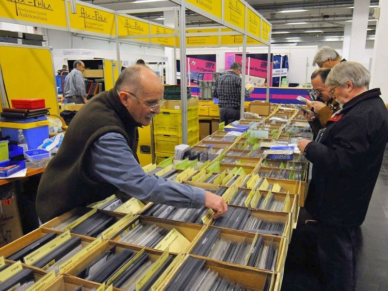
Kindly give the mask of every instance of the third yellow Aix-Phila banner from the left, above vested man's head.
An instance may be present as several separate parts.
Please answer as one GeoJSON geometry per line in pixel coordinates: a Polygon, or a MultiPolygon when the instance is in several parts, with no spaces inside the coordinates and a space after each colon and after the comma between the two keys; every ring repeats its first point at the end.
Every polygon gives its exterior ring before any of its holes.
{"type": "MultiPolygon", "coordinates": [[[[138,19],[132,19],[126,16],[117,16],[118,36],[128,35],[148,35],[149,23],[140,21],[138,19]]],[[[149,42],[149,38],[134,38],[140,41],[149,42]]]]}

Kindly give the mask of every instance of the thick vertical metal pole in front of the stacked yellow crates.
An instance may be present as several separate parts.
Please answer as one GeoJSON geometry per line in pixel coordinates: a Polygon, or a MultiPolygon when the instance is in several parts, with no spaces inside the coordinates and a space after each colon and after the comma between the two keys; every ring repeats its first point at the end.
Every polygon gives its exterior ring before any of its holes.
{"type": "Polygon", "coordinates": [[[187,83],[186,76],[186,4],[182,1],[179,7],[179,54],[180,54],[180,99],[182,104],[182,143],[187,144],[187,83]]]}

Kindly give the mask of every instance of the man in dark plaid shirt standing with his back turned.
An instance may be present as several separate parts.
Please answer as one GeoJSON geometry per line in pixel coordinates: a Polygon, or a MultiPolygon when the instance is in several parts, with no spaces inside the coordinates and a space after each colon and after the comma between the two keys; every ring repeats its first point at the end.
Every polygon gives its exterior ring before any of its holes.
{"type": "MultiPolygon", "coordinates": [[[[225,125],[240,119],[241,106],[241,65],[233,63],[226,74],[217,78],[213,98],[218,98],[220,122],[225,125]]],[[[245,90],[245,98],[251,95],[253,87],[245,90]]]]}

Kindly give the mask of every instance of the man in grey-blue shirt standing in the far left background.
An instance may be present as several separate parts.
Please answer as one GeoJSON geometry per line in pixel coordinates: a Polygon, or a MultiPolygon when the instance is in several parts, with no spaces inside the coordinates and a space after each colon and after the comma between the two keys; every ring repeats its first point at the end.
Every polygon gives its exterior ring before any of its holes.
{"type": "Polygon", "coordinates": [[[87,102],[85,80],[82,75],[84,70],[83,62],[76,60],[73,63],[73,69],[66,76],[64,96],[68,103],[82,104],[87,102]]]}

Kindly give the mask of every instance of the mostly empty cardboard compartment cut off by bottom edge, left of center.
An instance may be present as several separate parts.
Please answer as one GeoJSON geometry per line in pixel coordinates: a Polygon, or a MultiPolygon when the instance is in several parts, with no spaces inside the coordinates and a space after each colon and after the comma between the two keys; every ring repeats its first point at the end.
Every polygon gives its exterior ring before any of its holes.
{"type": "Polygon", "coordinates": [[[74,291],[79,286],[82,286],[82,291],[112,291],[113,289],[105,284],[94,283],[86,281],[77,277],[61,275],[58,276],[53,282],[40,291],[74,291]]]}

